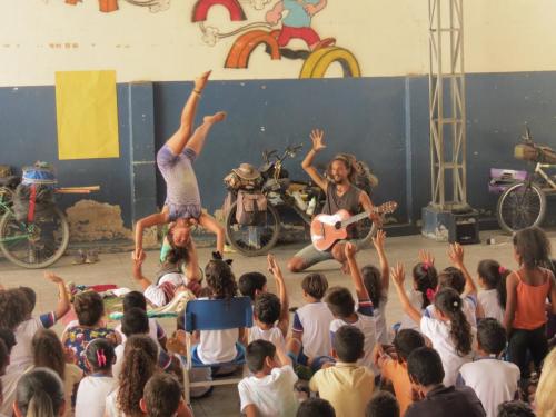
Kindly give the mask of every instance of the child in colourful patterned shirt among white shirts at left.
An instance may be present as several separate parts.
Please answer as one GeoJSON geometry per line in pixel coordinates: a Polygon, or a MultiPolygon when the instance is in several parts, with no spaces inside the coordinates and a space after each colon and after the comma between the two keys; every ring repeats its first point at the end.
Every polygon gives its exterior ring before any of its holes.
{"type": "Polygon", "coordinates": [[[119,337],[116,331],[109,329],[105,322],[105,304],[98,292],[87,291],[76,296],[73,309],[78,318],[78,326],[70,327],[62,335],[62,344],[73,351],[78,359],[77,365],[86,374],[83,351],[87,345],[95,339],[109,339],[116,346],[119,337]]]}

